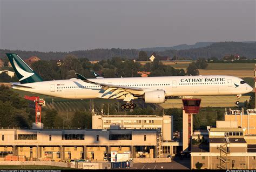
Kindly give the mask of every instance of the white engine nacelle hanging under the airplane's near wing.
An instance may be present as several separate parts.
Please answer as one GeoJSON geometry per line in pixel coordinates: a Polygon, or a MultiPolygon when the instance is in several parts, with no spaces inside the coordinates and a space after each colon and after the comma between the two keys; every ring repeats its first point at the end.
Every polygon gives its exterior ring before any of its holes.
{"type": "Polygon", "coordinates": [[[165,102],[165,91],[147,91],[144,94],[145,103],[164,103],[165,102]]]}

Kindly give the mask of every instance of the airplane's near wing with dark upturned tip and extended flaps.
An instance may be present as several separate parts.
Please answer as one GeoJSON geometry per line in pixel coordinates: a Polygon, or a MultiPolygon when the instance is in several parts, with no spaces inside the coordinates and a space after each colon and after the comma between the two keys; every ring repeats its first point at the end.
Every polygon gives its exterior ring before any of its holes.
{"type": "Polygon", "coordinates": [[[141,96],[144,94],[144,90],[142,88],[137,87],[126,87],[114,84],[106,84],[106,83],[99,83],[87,80],[84,76],[77,74],[76,75],[80,78],[80,80],[90,83],[99,85],[105,90],[101,97],[99,98],[109,98],[109,99],[116,99],[116,98],[124,98],[124,101],[131,101],[131,99],[136,99],[137,97],[133,96],[141,96]],[[111,93],[111,94],[110,94],[111,93]]]}

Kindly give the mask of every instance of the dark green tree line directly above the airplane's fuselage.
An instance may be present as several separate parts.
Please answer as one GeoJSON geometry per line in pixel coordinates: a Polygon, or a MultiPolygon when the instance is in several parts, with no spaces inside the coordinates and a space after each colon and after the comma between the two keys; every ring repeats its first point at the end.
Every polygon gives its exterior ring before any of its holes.
{"type": "MultiPolygon", "coordinates": [[[[99,71],[104,77],[140,77],[138,71],[150,72],[149,76],[184,76],[198,75],[198,69],[205,69],[207,62],[204,58],[190,63],[185,73],[184,69],[175,69],[165,65],[158,59],[153,62],[140,64],[137,61],[127,60],[120,57],[101,60],[97,63],[91,63],[86,58],[77,58],[75,55],[66,55],[65,59],[58,63],[57,60],[39,60],[31,64],[33,70],[38,73],[44,81],[66,80],[76,78],[79,73],[86,78],[95,78],[91,70],[99,71]]],[[[13,70],[10,68],[10,70],[13,70]]],[[[0,74],[0,82],[18,82],[17,77],[10,77],[6,73],[0,74]]]]}

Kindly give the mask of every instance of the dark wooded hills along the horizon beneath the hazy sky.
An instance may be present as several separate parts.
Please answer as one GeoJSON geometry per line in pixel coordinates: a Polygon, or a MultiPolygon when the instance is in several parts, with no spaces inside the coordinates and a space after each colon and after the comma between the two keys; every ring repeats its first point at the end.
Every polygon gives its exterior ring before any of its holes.
{"type": "MultiPolygon", "coordinates": [[[[189,45],[187,45],[189,46],[189,45]]],[[[176,46],[176,48],[186,47],[184,45],[176,46]]],[[[213,56],[217,58],[223,58],[227,54],[238,54],[240,56],[246,56],[247,58],[256,58],[256,42],[197,42],[197,44],[190,45],[190,49],[169,49],[165,51],[146,51],[147,55],[150,56],[153,52],[160,56],[178,55],[183,58],[211,58],[213,56]],[[206,46],[207,44],[210,44],[206,46]],[[204,47],[201,47],[204,46],[204,47]]],[[[20,50],[9,50],[0,49],[0,59],[4,59],[5,53],[17,53],[21,58],[28,59],[31,56],[37,56],[41,60],[61,60],[66,55],[73,54],[78,58],[87,58],[91,61],[95,60],[107,60],[113,56],[120,56],[125,59],[137,59],[139,49],[90,49],[73,52],[37,52],[37,51],[20,51],[20,50]]]]}

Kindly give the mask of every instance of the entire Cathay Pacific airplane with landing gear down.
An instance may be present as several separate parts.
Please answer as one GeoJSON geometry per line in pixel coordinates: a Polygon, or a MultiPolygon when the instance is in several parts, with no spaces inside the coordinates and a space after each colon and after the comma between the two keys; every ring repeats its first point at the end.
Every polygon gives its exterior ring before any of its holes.
{"type": "MultiPolygon", "coordinates": [[[[6,53],[19,83],[12,89],[69,99],[123,99],[121,109],[134,109],[134,99],[164,103],[170,96],[237,95],[253,88],[239,77],[226,75],[90,78],[80,74],[69,80],[43,81],[17,54],[6,53]]],[[[97,75],[97,74],[96,74],[97,75]]]]}

